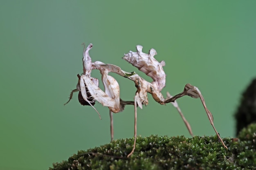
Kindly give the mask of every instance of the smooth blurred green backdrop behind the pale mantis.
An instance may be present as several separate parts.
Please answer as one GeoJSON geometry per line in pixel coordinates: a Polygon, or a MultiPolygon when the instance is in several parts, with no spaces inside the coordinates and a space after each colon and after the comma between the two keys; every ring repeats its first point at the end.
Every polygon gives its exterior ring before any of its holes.
{"type": "MultiPolygon", "coordinates": [[[[144,73],[121,59],[144,46],[164,60],[172,95],[186,83],[202,92],[222,137],[234,137],[233,114],[240,95],[256,75],[256,1],[20,1],[0,3],[0,169],[43,170],[77,150],[110,141],[108,108],[81,106],[76,74],[82,73],[82,42],[90,56],[144,73]]],[[[132,100],[133,82],[113,75],[121,98],[132,100]]],[[[92,76],[98,77],[99,71],[92,76]]],[[[100,85],[102,88],[102,84],[100,85]]],[[[189,133],[171,104],[138,109],[138,135],[189,133]]],[[[199,99],[177,101],[194,135],[215,135],[199,99]]],[[[130,138],[134,112],[114,115],[115,139],[130,138]]]]}

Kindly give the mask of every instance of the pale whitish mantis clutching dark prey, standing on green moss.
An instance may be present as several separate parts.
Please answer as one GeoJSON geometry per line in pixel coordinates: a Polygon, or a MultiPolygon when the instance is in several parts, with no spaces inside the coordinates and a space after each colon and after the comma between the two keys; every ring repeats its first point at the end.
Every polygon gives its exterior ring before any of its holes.
{"type": "MultiPolygon", "coordinates": [[[[208,110],[204,101],[204,97],[202,96],[200,90],[197,87],[192,86],[191,84],[186,84],[184,87],[184,91],[182,91],[181,93],[175,96],[171,96],[167,92],[166,98],[164,98],[161,91],[165,87],[166,83],[166,74],[163,69],[163,67],[165,66],[165,62],[158,62],[154,58],[154,56],[157,54],[155,49],[150,49],[147,54],[142,52],[143,46],[137,45],[136,52],[129,51],[128,53],[124,54],[123,57],[123,59],[126,60],[128,63],[132,64],[132,66],[135,66],[139,69],[139,71],[145,73],[147,76],[153,79],[152,82],[147,82],[137,73],[129,73],[123,71],[119,66],[115,66],[113,64],[105,64],[100,61],[92,62],[92,59],[89,55],[89,51],[90,49],[92,49],[92,44],[89,44],[88,47],[85,48],[85,44],[83,43],[83,46],[83,73],[81,75],[77,75],[78,83],[76,85],[76,89],[72,90],[72,92],[70,93],[70,97],[67,103],[70,102],[70,100],[72,99],[74,92],[79,92],[78,99],[80,104],[82,104],[83,106],[92,106],[92,108],[94,108],[94,110],[98,113],[100,119],[101,115],[98,112],[98,110],[94,107],[95,102],[97,101],[103,106],[107,106],[110,114],[111,141],[114,139],[113,113],[119,113],[123,111],[126,105],[134,105],[134,144],[132,150],[127,155],[127,157],[130,157],[132,155],[136,146],[137,106],[139,106],[139,108],[142,109],[143,105],[148,105],[148,93],[151,94],[153,99],[159,104],[173,104],[173,106],[177,109],[178,113],[182,117],[184,124],[189,130],[191,136],[193,136],[191,126],[189,122],[185,119],[184,115],[182,114],[182,111],[180,110],[176,102],[176,99],[185,95],[188,95],[192,98],[200,98],[204,110],[206,111],[207,116],[209,118],[211,126],[216,132],[219,141],[227,149],[227,146],[224,144],[215,126],[213,125],[213,115],[208,110]],[[91,72],[95,69],[100,71],[105,91],[102,91],[99,88],[99,79],[91,77],[91,72]],[[126,79],[130,79],[135,83],[137,91],[135,92],[134,101],[124,101],[120,98],[119,84],[114,77],[108,75],[108,73],[110,72],[116,73],[126,79]]],[[[65,103],[64,105],[66,105],[67,103],[65,103]]]]}

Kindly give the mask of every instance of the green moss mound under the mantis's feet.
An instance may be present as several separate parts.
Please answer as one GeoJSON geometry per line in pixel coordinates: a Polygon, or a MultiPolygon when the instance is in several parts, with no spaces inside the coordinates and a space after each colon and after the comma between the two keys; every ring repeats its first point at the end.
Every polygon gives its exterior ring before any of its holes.
{"type": "Polygon", "coordinates": [[[217,136],[186,138],[151,135],[118,139],[100,147],[80,150],[67,161],[54,163],[49,170],[245,170],[256,169],[256,124],[244,128],[238,138],[217,136]]]}

